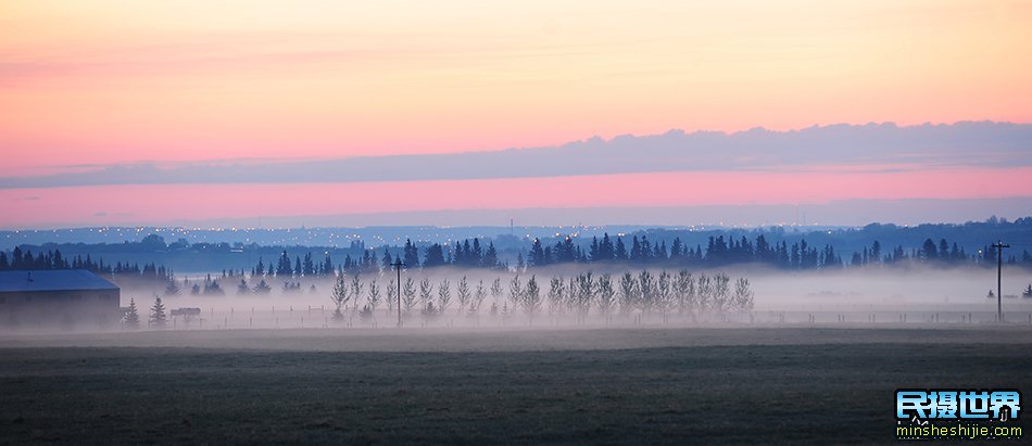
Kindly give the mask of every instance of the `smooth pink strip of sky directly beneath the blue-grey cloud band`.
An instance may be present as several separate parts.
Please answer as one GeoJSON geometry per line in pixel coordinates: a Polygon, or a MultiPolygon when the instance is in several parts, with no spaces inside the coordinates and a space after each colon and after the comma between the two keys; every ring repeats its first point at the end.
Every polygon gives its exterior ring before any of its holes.
{"type": "Polygon", "coordinates": [[[161,225],[210,218],[532,207],[821,204],[834,200],[991,199],[1032,191],[1032,167],[899,173],[674,173],[309,184],[101,186],[0,190],[13,227],[161,225]],[[715,187],[720,184],[720,187],[715,187]],[[730,187],[730,184],[734,184],[730,187]]]}

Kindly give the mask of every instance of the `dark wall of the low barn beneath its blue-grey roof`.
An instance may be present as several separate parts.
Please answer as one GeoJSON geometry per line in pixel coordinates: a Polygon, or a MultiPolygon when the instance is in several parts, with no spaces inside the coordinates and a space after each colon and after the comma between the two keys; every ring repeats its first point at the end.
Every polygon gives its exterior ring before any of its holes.
{"type": "Polygon", "coordinates": [[[0,327],[117,327],[121,297],[118,289],[0,293],[0,327]]]}

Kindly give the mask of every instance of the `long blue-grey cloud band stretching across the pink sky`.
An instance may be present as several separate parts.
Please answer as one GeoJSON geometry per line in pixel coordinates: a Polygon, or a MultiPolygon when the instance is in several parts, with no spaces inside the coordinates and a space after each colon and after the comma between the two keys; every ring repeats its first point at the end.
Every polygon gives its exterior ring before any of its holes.
{"type": "MultiPolygon", "coordinates": [[[[215,149],[215,148],[213,148],[215,149]]],[[[1032,125],[957,123],[899,127],[834,125],[795,131],[589,139],[561,146],[320,161],[129,164],[0,178],[0,189],[106,184],[313,183],[538,178],[669,171],[793,169],[920,170],[936,166],[1032,166],[1032,125]]]]}

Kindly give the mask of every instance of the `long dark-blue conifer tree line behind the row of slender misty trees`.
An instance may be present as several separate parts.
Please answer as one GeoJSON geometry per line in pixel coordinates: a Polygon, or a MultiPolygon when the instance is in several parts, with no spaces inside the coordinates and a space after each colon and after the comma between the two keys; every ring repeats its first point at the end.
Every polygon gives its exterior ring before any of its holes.
{"type": "MultiPolygon", "coordinates": [[[[725,235],[709,237],[706,246],[689,246],[675,238],[668,246],[666,241],[653,243],[646,234],[631,235],[629,242],[624,237],[592,237],[587,249],[581,247],[572,237],[565,237],[554,244],[545,244],[533,239],[526,259],[523,253],[517,255],[516,271],[562,264],[639,264],[671,267],[712,268],[732,264],[764,264],[782,269],[830,269],[864,265],[890,265],[904,262],[920,262],[937,265],[981,264],[995,262],[996,249],[990,244],[974,254],[969,254],[956,242],[941,239],[937,243],[927,239],[920,247],[906,250],[903,245],[883,249],[879,241],[854,252],[848,262],[831,244],[811,245],[805,238],[789,244],[786,241],[769,242],[765,234],[755,239],[742,235],[738,239],[725,235]]],[[[483,247],[480,239],[466,239],[451,244],[432,243],[418,247],[411,240],[405,242],[402,253],[392,255],[390,247],[382,247],[379,256],[374,250],[364,251],[357,258],[347,256],[336,265],[336,273],[361,273],[382,271],[391,268],[395,262],[402,262],[406,268],[433,268],[455,266],[464,268],[512,269],[509,264],[498,257],[494,244],[483,247]],[[378,259],[379,258],[379,259],[378,259]]],[[[1032,265],[1032,254],[1024,250],[1020,256],[1014,254],[1007,258],[1009,264],[1032,265]]],[[[295,256],[291,262],[285,250],[277,265],[267,266],[259,259],[252,276],[327,276],[335,271],[335,264],[327,254],[322,263],[313,260],[312,253],[304,258],[295,256]]]]}

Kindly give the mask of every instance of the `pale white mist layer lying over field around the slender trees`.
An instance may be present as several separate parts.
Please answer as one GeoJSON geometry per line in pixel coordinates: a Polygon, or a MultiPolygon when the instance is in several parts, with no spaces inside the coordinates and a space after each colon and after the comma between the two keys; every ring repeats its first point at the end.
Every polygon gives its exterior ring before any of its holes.
{"type": "MultiPolygon", "coordinates": [[[[620,291],[620,279],[629,272],[638,281],[643,270],[647,270],[653,280],[662,273],[677,275],[681,269],[628,269],[621,266],[584,268],[582,266],[551,267],[533,269],[519,275],[513,272],[483,271],[480,269],[440,268],[432,270],[403,270],[402,286],[412,280],[415,292],[412,307],[403,310],[403,327],[407,330],[419,328],[577,328],[577,327],[652,327],[683,328],[693,326],[728,324],[733,327],[751,323],[767,326],[771,323],[836,323],[848,322],[854,326],[880,327],[885,323],[904,322],[902,315],[908,314],[906,322],[941,323],[990,323],[995,320],[996,300],[986,298],[990,290],[995,290],[995,271],[984,268],[959,267],[936,268],[914,266],[907,269],[863,268],[838,272],[809,271],[785,272],[762,266],[737,266],[720,269],[688,270],[692,278],[699,276],[717,277],[726,275],[730,279],[728,293],[734,294],[734,281],[748,280],[754,294],[751,308],[729,305],[717,309],[699,302],[682,304],[677,295],[671,295],[669,306],[644,308],[640,301],[625,304],[620,291]],[[591,272],[595,290],[587,305],[571,302],[566,290],[570,280],[582,278],[591,272]],[[597,280],[608,275],[614,295],[612,303],[604,307],[599,295],[597,280]],[[465,278],[467,302],[462,302],[460,286],[465,278]],[[513,297],[513,279],[518,278],[520,286],[526,289],[533,278],[539,286],[538,306],[533,314],[528,313],[525,302],[513,297]],[[561,302],[553,303],[550,297],[551,281],[559,279],[564,289],[561,302]],[[423,281],[429,285],[429,297],[424,300],[423,281]],[[491,291],[494,281],[500,289],[491,291]],[[448,307],[440,311],[442,283],[446,282],[448,307]],[[483,297],[476,302],[477,289],[482,286],[483,297]],[[427,303],[440,313],[426,315],[427,303]],[[462,306],[460,306],[462,304],[462,306]],[[477,305],[476,309],[473,307],[477,305]],[[809,317],[813,315],[814,320],[809,317]],[[839,320],[839,315],[845,319],[839,320]],[[873,318],[872,318],[872,315],[873,318]],[[937,315],[937,316],[936,316],[937,315]],[[937,317],[937,319],[935,319],[937,317]],[[973,318],[969,320],[968,318],[973,318]]],[[[1020,291],[1032,275],[1027,269],[1009,267],[1004,270],[1008,277],[1007,290],[1003,300],[1005,313],[1015,322],[1029,321],[1032,314],[1032,298],[1021,297],[1020,291]]],[[[333,317],[335,278],[266,280],[270,285],[268,294],[253,292],[238,294],[240,278],[221,279],[226,294],[191,295],[183,290],[178,295],[167,295],[155,285],[127,285],[123,288],[123,307],[134,298],[141,315],[155,297],[163,297],[166,308],[199,308],[200,315],[189,318],[171,317],[169,328],[174,329],[249,329],[249,328],[343,328],[343,329],[392,329],[397,327],[398,289],[394,286],[395,273],[357,275],[361,285],[358,297],[349,291],[348,302],[342,306],[342,318],[333,317]],[[377,305],[368,315],[362,308],[370,305],[369,288],[378,288],[377,305]],[[300,284],[298,290],[285,290],[285,283],[300,284]],[[391,293],[388,294],[388,291],[391,293]]],[[[345,275],[344,283],[351,289],[355,276],[345,275]]],[[[204,281],[204,276],[186,278],[186,283],[204,281]]],[[[255,281],[243,279],[249,286],[255,281]]],[[[672,279],[671,279],[672,280],[672,279]]],[[[635,283],[637,285],[637,283],[635,283]]],[[[574,293],[580,292],[580,282],[575,283],[574,293]]],[[[994,291],[995,292],[995,291],[994,291]]],[[[671,291],[674,293],[674,291],[671,291]]],[[[402,300],[407,295],[402,290],[402,300]]],[[[638,296],[638,300],[641,297],[638,296]]],[[[403,308],[405,302],[402,303],[403,308]]],[[[144,327],[147,324],[144,323],[144,327]]]]}

